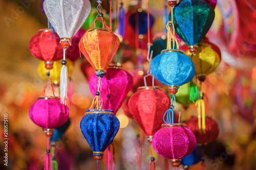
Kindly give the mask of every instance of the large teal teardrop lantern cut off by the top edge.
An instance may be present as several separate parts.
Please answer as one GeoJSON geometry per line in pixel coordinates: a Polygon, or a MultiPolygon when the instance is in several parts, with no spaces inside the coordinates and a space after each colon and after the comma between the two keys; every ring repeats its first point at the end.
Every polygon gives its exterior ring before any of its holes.
{"type": "MultiPolygon", "coordinates": [[[[169,20],[171,20],[171,14],[169,20]]],[[[214,21],[215,11],[203,0],[184,0],[174,9],[174,26],[177,35],[195,53],[214,21]]]]}

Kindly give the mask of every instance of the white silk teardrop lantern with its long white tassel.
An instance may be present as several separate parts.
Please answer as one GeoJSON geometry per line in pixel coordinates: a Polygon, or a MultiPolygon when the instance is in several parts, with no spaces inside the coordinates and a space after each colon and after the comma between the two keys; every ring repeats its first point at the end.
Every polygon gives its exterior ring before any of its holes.
{"type": "Polygon", "coordinates": [[[66,50],[72,37],[81,28],[91,11],[89,0],[45,0],[44,11],[51,25],[60,36],[63,48],[63,61],[60,75],[60,100],[66,104],[67,98],[67,62],[66,50]]]}

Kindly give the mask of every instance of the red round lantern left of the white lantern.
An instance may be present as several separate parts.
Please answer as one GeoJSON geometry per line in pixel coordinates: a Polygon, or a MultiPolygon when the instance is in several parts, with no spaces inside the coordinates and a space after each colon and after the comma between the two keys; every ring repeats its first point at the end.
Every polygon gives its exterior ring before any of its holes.
{"type": "Polygon", "coordinates": [[[45,67],[52,69],[53,61],[60,60],[63,56],[63,50],[60,39],[52,29],[41,29],[34,35],[29,43],[31,54],[39,60],[45,61],[45,67]]]}

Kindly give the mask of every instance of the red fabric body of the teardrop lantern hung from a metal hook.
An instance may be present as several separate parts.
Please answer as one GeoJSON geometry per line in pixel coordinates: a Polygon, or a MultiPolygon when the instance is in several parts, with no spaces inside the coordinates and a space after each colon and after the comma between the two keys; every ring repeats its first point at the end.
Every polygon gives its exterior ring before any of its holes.
{"type": "Polygon", "coordinates": [[[131,114],[146,136],[153,136],[160,129],[169,105],[168,95],[159,89],[138,90],[128,102],[131,114]]]}

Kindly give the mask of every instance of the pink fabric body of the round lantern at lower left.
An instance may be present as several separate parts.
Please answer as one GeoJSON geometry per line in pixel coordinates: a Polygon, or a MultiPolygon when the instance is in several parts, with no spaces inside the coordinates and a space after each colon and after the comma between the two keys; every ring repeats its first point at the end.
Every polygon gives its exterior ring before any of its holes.
{"type": "Polygon", "coordinates": [[[29,109],[31,120],[44,129],[55,129],[69,118],[69,108],[59,99],[38,99],[29,109]]]}

